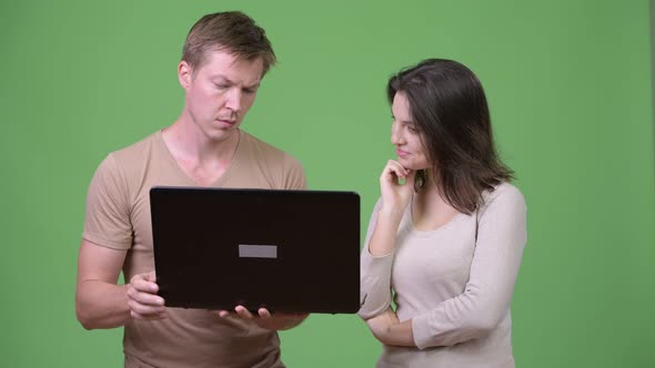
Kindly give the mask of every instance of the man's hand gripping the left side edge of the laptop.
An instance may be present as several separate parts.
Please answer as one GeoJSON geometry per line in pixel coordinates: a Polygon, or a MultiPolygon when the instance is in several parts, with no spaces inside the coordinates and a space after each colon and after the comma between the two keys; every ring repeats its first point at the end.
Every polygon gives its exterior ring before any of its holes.
{"type": "Polygon", "coordinates": [[[130,315],[135,319],[163,319],[167,317],[164,299],[157,295],[154,272],[134,275],[128,286],[130,315]]]}

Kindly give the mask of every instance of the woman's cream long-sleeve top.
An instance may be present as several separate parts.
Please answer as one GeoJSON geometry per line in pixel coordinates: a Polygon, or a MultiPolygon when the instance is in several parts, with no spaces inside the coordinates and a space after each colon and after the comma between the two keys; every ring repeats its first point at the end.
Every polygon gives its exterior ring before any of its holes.
{"type": "Polygon", "coordinates": [[[362,307],[369,319],[392,300],[401,321],[412,320],[416,347],[384,346],[377,367],[514,367],[510,304],[526,243],[521,192],[503,183],[483,194],[472,215],[457,214],[434,231],[417,231],[411,204],[394,251],[374,257],[362,251],[362,307]]]}

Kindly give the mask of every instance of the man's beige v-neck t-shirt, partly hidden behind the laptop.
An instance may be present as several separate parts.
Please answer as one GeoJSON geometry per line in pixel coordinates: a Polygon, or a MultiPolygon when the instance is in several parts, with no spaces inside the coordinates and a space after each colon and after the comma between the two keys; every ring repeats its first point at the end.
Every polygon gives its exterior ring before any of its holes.
{"type": "MultiPolygon", "coordinates": [[[[155,185],[196,186],[161,132],[110,153],[89,187],[82,237],[127,249],[125,280],[154,269],[149,191],[155,185]]],[[[306,183],[300,162],[240,131],[230,167],[211,186],[302,190],[306,183]]],[[[125,367],[283,367],[275,331],[201,309],[169,308],[163,320],[133,319],[123,347],[125,367]]]]}

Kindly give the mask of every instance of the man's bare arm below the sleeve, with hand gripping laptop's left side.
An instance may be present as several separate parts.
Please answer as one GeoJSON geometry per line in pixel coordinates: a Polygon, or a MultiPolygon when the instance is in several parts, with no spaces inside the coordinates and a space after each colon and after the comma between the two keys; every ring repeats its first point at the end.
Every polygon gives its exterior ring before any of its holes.
{"type": "Polygon", "coordinates": [[[132,318],[165,317],[164,300],[157,296],[154,273],[132,277],[117,285],[127,251],[82,241],[78,259],[75,313],[87,329],[114,328],[132,318]]]}

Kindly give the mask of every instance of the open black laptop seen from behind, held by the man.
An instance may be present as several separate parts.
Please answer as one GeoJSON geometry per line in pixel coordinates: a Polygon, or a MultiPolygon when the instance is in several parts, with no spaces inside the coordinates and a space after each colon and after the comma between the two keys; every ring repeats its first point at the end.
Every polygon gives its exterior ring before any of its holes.
{"type": "Polygon", "coordinates": [[[168,307],[353,314],[354,192],[155,186],[154,266],[168,307]]]}

